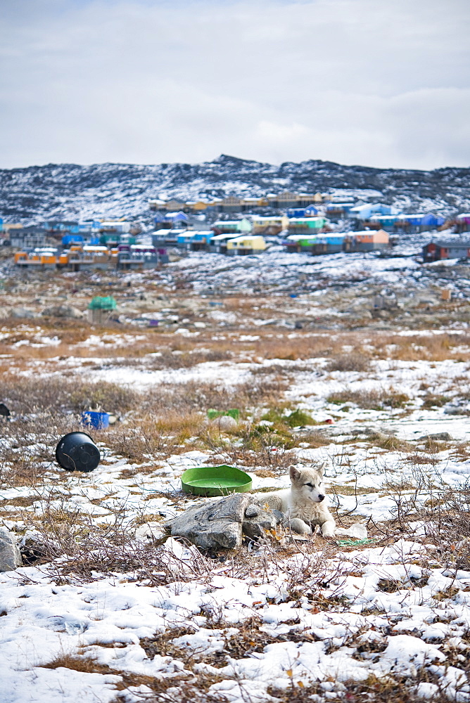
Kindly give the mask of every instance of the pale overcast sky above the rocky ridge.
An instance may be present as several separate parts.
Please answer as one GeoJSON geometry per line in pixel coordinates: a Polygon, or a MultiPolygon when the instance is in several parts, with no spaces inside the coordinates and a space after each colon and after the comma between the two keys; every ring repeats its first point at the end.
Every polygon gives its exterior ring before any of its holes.
{"type": "Polygon", "coordinates": [[[469,0],[0,5],[0,167],[470,165],[469,0]]]}

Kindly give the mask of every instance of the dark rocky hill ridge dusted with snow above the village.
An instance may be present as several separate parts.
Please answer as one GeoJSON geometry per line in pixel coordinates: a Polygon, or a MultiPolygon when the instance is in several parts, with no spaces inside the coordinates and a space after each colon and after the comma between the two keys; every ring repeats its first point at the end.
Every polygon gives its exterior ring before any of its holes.
{"type": "Polygon", "coordinates": [[[470,169],[373,169],[308,160],[279,166],[221,155],[201,164],[49,164],[0,170],[0,215],[25,224],[104,215],[146,217],[151,198],[348,191],[409,212],[470,209],[470,169]]]}

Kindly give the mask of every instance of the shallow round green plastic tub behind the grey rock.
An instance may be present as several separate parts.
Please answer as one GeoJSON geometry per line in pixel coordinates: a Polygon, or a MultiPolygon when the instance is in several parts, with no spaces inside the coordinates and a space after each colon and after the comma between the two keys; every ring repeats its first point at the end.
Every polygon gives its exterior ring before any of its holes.
{"type": "Polygon", "coordinates": [[[195,496],[228,496],[230,493],[246,493],[251,490],[251,479],[244,471],[234,466],[197,466],[188,469],[181,477],[185,493],[195,496]]]}

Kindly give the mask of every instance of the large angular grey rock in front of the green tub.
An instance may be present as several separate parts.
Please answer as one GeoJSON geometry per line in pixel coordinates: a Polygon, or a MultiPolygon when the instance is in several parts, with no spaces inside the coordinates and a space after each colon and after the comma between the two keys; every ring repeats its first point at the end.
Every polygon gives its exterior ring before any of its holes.
{"type": "Polygon", "coordinates": [[[172,537],[186,537],[204,549],[241,546],[242,522],[251,496],[236,493],[186,510],[165,524],[172,537]]]}

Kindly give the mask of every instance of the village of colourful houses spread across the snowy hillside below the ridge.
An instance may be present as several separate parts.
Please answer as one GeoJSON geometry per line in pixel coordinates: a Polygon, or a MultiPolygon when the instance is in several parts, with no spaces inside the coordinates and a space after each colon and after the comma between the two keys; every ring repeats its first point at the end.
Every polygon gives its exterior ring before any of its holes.
{"type": "Polygon", "coordinates": [[[381,202],[331,193],[268,194],[262,198],[149,200],[145,222],[116,217],[23,226],[0,218],[2,244],[18,268],[144,270],[171,250],[261,254],[273,245],[312,256],[390,251],[399,238],[429,233],[424,262],[470,256],[470,213],[400,212],[381,202]]]}

